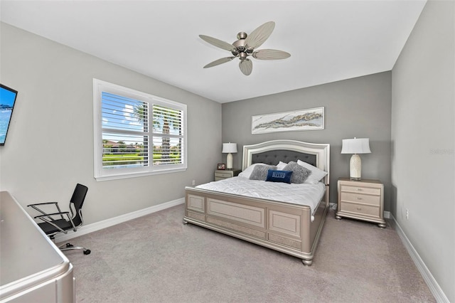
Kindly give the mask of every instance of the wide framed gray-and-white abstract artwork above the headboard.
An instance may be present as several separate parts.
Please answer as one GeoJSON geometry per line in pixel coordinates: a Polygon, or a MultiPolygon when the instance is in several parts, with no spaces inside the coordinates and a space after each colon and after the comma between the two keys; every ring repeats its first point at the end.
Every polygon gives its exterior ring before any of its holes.
{"type": "Polygon", "coordinates": [[[319,129],[324,129],[324,107],[251,117],[252,134],[319,129]]]}

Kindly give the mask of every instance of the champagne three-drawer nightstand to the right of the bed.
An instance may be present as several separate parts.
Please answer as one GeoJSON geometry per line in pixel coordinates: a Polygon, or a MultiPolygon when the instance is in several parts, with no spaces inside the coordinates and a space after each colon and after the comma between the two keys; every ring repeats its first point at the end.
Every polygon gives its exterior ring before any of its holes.
{"type": "Polygon", "coordinates": [[[385,228],[384,184],[379,180],[338,179],[338,208],[335,218],[342,217],[378,223],[385,228]]]}

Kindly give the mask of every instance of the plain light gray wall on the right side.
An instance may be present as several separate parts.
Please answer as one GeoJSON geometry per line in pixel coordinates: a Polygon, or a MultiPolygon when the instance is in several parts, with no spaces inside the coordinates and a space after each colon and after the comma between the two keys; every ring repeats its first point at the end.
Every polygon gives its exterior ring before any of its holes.
{"type": "Polygon", "coordinates": [[[454,1],[428,1],[392,70],[391,211],[450,302],[455,302],[454,11],[454,1]]]}

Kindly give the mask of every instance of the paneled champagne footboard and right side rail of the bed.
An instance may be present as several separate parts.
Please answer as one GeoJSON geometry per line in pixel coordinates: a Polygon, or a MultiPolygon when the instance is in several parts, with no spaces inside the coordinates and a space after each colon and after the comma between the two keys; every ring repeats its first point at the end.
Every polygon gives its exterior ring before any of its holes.
{"type": "MultiPolygon", "coordinates": [[[[185,188],[183,223],[216,230],[235,238],[301,258],[311,265],[328,211],[323,198],[311,221],[309,206],[185,188]]],[[[326,191],[328,193],[328,191],[326,191]]]]}

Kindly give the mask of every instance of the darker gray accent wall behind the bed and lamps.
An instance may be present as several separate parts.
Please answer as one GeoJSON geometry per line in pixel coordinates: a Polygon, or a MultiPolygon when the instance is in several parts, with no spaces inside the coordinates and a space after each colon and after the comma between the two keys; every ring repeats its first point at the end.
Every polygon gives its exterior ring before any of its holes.
{"type": "MultiPolygon", "coordinates": [[[[331,202],[336,183],[349,176],[349,154],[341,154],[341,140],[370,138],[371,154],[360,155],[362,178],[385,184],[385,210],[390,210],[391,73],[378,73],[314,87],[223,104],[223,142],[237,143],[234,166],[242,167],[242,146],[273,139],[331,144],[331,202]],[[325,107],[325,129],[304,132],[251,134],[253,115],[325,107]]],[[[223,159],[225,160],[225,158],[223,159]]]]}

